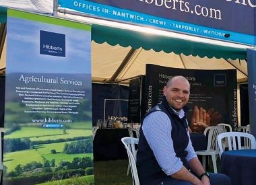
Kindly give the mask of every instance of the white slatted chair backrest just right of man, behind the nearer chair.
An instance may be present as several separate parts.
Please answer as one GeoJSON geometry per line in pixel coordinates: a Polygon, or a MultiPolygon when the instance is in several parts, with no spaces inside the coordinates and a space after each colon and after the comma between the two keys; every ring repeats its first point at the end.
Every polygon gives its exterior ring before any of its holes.
{"type": "Polygon", "coordinates": [[[216,153],[218,153],[217,136],[220,133],[223,133],[223,126],[209,126],[205,128],[203,134],[207,138],[206,151],[216,150],[216,153]]]}

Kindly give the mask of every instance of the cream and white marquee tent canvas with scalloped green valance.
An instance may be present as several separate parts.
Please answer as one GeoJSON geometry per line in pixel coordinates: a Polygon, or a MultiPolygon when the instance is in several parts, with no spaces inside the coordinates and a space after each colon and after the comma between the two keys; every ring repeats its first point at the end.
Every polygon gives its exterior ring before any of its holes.
{"type": "MultiPolygon", "coordinates": [[[[0,0],[0,5],[53,15],[51,0],[0,0]]],[[[139,32],[133,25],[115,28],[94,22],[92,17],[58,13],[58,17],[92,24],[92,81],[127,83],[127,79],[144,75],[146,63],[184,69],[236,69],[238,83],[247,82],[246,48],[241,44],[210,42],[139,32]],[[134,29],[133,29],[134,28],[134,29]]],[[[150,30],[152,28],[143,28],[150,30]]],[[[1,38],[5,25],[1,24],[1,38]]],[[[150,31],[148,31],[150,32],[150,31]]],[[[0,44],[0,71],[5,71],[5,40],[0,44]]]]}

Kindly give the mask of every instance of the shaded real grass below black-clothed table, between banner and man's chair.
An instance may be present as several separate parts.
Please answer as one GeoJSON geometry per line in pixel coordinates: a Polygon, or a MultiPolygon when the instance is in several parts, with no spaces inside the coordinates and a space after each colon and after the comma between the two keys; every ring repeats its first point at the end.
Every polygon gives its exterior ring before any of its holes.
{"type": "Polygon", "coordinates": [[[115,161],[96,161],[94,162],[94,178],[95,184],[103,185],[131,185],[132,177],[131,172],[129,176],[126,175],[127,160],[115,161]]]}

